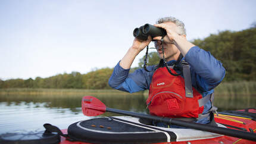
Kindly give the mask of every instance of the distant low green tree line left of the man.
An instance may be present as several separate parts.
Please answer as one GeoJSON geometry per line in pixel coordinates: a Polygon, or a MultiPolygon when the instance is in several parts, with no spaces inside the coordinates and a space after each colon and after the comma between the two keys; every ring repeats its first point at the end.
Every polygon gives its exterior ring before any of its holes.
{"type": "Polygon", "coordinates": [[[73,71],[70,74],[33,79],[0,80],[0,88],[47,88],[47,89],[110,89],[108,79],[113,68],[101,68],[86,74],[73,71]]]}

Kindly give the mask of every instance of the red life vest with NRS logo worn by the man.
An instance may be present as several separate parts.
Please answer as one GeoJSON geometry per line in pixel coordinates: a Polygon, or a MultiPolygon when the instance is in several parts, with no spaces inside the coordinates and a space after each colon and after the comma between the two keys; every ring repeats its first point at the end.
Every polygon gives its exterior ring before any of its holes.
{"type": "MultiPolygon", "coordinates": [[[[171,72],[177,74],[172,68],[171,72]]],[[[158,68],[152,77],[149,96],[146,100],[152,115],[171,118],[198,118],[204,106],[199,107],[202,95],[193,89],[193,97],[186,97],[185,80],[181,76],[171,75],[166,67],[158,68]]]]}

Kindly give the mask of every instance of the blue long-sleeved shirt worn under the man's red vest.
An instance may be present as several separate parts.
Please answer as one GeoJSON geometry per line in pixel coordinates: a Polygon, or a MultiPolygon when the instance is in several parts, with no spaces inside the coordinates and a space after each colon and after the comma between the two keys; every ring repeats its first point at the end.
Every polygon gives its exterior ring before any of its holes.
{"type": "MultiPolygon", "coordinates": [[[[214,87],[223,80],[225,69],[220,61],[213,57],[210,52],[200,49],[198,46],[193,46],[185,55],[185,61],[191,66],[192,86],[198,90],[204,97],[214,92],[214,87]]],[[[169,61],[168,64],[175,62],[169,61]]],[[[125,92],[139,92],[149,89],[152,76],[154,74],[155,65],[148,66],[145,71],[143,68],[129,74],[130,69],[124,69],[119,65],[115,65],[113,74],[111,75],[108,84],[114,89],[123,90],[125,92]]],[[[177,71],[177,73],[179,73],[177,71]]],[[[211,109],[211,102],[208,101],[204,105],[206,114],[211,109]]],[[[199,120],[198,123],[208,123],[207,120],[199,120]]]]}

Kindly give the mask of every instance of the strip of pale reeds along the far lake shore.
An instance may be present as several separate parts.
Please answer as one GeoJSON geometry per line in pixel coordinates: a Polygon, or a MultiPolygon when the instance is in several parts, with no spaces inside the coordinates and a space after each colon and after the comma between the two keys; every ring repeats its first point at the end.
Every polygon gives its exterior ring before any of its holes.
{"type": "MultiPolygon", "coordinates": [[[[4,95],[143,95],[148,96],[148,90],[128,93],[115,89],[47,89],[47,88],[7,88],[0,89],[0,96],[4,95]]],[[[215,89],[216,96],[256,96],[256,82],[224,82],[215,89]]]]}

